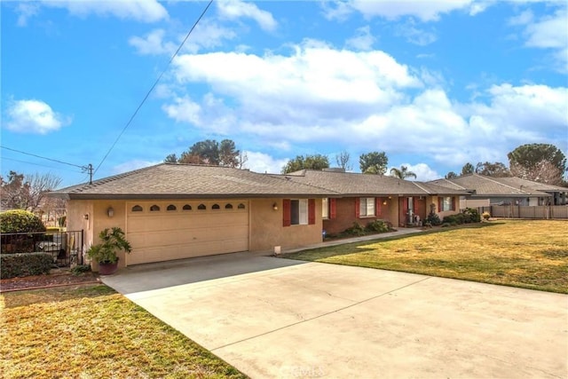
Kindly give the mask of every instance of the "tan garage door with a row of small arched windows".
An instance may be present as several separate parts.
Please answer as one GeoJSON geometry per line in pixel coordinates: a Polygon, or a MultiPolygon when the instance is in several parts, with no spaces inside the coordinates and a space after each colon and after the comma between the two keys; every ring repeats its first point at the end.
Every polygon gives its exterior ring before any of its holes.
{"type": "Polygon", "coordinates": [[[248,250],[248,201],[127,203],[127,265],[248,250]]]}

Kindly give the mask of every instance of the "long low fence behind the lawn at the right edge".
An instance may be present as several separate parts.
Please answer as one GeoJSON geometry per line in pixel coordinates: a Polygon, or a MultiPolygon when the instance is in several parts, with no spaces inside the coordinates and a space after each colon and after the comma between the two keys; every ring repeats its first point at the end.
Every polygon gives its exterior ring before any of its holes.
{"type": "Polygon", "coordinates": [[[489,212],[491,217],[568,219],[568,205],[491,205],[479,207],[479,213],[489,212]]]}

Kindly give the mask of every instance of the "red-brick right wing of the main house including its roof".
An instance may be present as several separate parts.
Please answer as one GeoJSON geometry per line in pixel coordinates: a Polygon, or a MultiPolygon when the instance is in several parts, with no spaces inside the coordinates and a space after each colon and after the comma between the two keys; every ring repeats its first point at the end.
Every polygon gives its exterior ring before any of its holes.
{"type": "Polygon", "coordinates": [[[443,218],[459,212],[457,200],[464,194],[460,189],[340,170],[300,170],[286,178],[341,193],[324,199],[322,217],[327,233],[343,232],[355,222],[366,225],[375,219],[406,226],[423,220],[431,210],[443,218]]]}

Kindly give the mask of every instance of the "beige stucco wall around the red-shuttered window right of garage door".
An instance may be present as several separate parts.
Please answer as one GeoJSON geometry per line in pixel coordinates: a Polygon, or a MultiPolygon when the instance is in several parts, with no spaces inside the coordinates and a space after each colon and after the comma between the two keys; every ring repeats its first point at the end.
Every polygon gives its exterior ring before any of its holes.
{"type": "Polygon", "coordinates": [[[296,248],[322,240],[321,201],[316,199],[316,223],[314,225],[282,226],[282,199],[254,199],[250,201],[250,250],[273,251],[296,248]],[[276,203],[278,210],[272,205],[276,203]]]}

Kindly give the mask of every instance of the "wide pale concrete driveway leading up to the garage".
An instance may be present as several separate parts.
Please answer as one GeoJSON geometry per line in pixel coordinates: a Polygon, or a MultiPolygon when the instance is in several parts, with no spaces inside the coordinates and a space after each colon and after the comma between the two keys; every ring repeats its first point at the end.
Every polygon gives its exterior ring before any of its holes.
{"type": "Polygon", "coordinates": [[[568,296],[248,253],[103,278],[253,378],[566,378],[568,296]]]}

